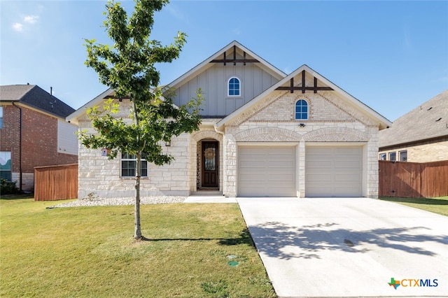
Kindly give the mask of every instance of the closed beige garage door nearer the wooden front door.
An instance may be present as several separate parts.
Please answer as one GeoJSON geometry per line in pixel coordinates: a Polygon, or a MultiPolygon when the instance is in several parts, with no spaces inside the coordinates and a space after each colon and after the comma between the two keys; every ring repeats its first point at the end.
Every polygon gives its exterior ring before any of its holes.
{"type": "Polygon", "coordinates": [[[295,147],[239,147],[239,197],[295,197],[295,147]]]}

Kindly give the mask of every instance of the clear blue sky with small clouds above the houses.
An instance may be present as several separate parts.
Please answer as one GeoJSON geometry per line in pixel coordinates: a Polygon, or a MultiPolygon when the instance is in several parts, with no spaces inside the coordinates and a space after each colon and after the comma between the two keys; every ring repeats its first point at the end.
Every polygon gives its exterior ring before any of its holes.
{"type": "MultiPolygon", "coordinates": [[[[35,84],[73,108],[107,89],[83,38],[110,43],[106,1],[0,1],[0,84],[35,84]]],[[[121,1],[128,13],[134,1],[121,1]]],[[[233,40],[287,74],[307,64],[389,120],[448,89],[448,1],[171,1],[152,38],[188,34],[158,66],[175,80],[233,40]]]]}

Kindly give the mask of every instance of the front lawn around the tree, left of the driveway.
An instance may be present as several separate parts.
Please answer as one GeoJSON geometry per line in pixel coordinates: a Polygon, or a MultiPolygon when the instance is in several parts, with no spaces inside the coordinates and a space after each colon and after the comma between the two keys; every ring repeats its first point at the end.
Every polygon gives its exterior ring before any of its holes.
{"type": "Polygon", "coordinates": [[[0,200],[0,297],[276,297],[237,204],[57,203],[0,200]]]}

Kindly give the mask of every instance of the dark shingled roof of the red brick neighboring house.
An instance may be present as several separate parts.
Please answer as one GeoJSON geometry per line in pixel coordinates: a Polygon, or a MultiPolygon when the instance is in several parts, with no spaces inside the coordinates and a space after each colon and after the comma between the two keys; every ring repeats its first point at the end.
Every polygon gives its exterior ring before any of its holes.
{"type": "Polygon", "coordinates": [[[0,86],[0,101],[18,101],[40,111],[59,118],[66,118],[75,111],[57,97],[49,94],[38,85],[4,85],[0,86]]]}

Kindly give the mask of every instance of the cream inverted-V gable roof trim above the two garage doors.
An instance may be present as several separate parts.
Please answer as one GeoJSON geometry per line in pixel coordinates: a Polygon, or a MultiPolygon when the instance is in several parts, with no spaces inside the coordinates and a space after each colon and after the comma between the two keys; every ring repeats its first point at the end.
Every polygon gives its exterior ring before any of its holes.
{"type": "Polygon", "coordinates": [[[314,78],[319,80],[321,83],[323,83],[324,85],[332,88],[332,90],[334,90],[335,92],[341,94],[342,97],[344,99],[346,99],[347,104],[350,104],[351,106],[354,106],[355,108],[357,108],[358,110],[362,111],[367,116],[369,116],[371,119],[377,121],[378,125],[379,125],[379,129],[384,129],[384,128],[389,127],[390,125],[392,125],[392,122],[387,120],[386,118],[384,118],[384,116],[380,115],[379,113],[374,111],[372,108],[370,108],[366,104],[363,104],[363,102],[359,101],[355,97],[352,97],[349,93],[345,92],[340,87],[338,87],[337,85],[335,85],[332,82],[330,82],[330,80],[328,80],[327,78],[321,76],[321,74],[317,73],[316,71],[311,69],[309,66],[304,64],[304,65],[300,66],[298,69],[296,69],[295,71],[293,71],[292,73],[290,73],[288,76],[283,78],[282,80],[279,80],[278,83],[272,85],[272,87],[269,87],[269,89],[265,90],[265,92],[262,92],[260,95],[258,95],[257,97],[255,97],[254,99],[249,101],[247,104],[244,104],[244,106],[241,106],[235,112],[231,113],[230,115],[225,117],[223,120],[221,120],[218,123],[216,123],[216,127],[220,128],[223,125],[225,125],[225,123],[227,123],[230,120],[236,118],[241,113],[244,113],[244,111],[246,111],[251,106],[257,104],[264,97],[266,97],[269,93],[271,93],[274,90],[276,90],[276,88],[281,87],[282,85],[286,85],[287,83],[289,84],[290,79],[294,78],[295,76],[297,76],[298,73],[301,73],[302,71],[305,71],[310,76],[314,76],[314,78]]]}

